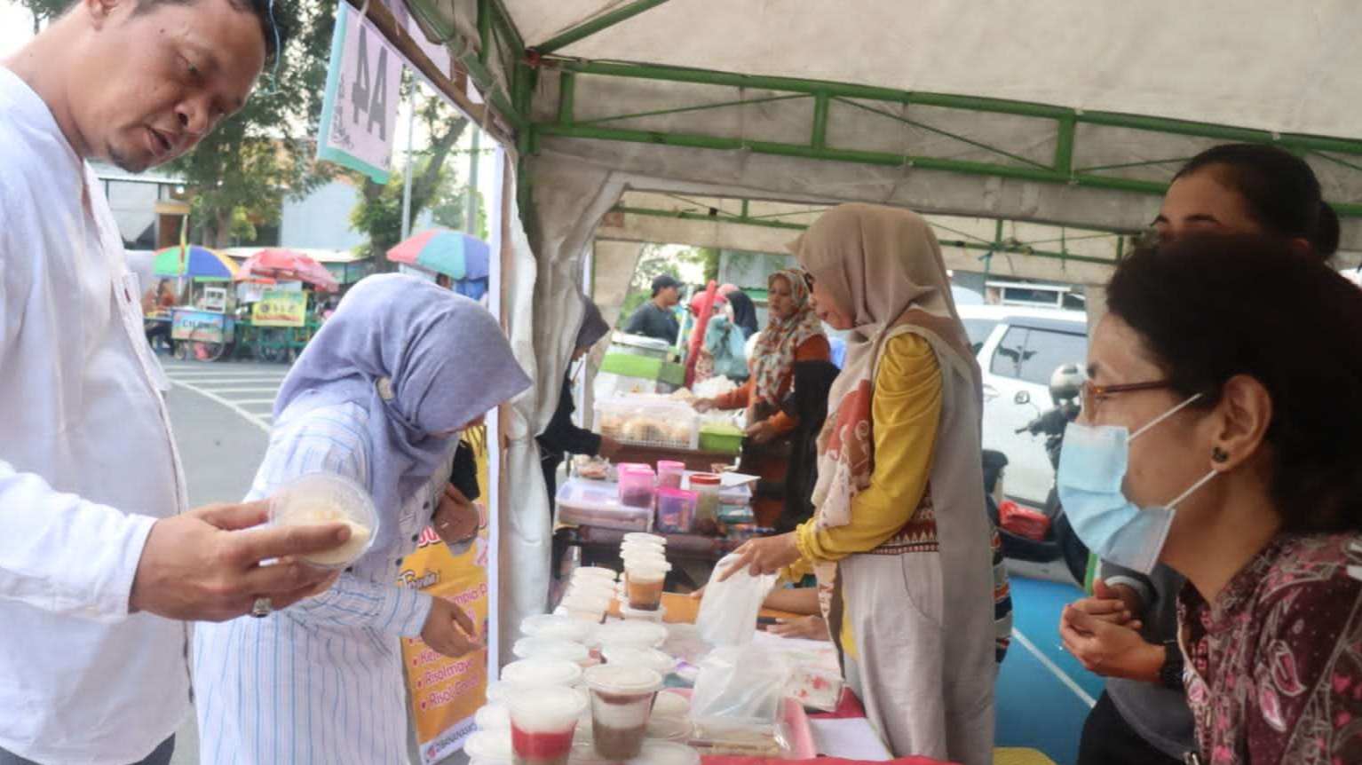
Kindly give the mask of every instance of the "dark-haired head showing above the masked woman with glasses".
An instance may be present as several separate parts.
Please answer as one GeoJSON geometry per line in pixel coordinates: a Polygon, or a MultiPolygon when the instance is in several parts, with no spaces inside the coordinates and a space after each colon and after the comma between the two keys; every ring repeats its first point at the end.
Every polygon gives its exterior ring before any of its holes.
{"type": "Polygon", "coordinates": [[[1303,159],[1273,146],[1227,143],[1178,170],[1155,221],[1162,237],[1263,233],[1328,260],[1339,249],[1339,216],[1303,159]]]}

